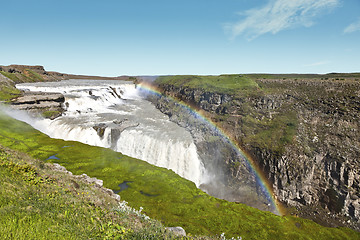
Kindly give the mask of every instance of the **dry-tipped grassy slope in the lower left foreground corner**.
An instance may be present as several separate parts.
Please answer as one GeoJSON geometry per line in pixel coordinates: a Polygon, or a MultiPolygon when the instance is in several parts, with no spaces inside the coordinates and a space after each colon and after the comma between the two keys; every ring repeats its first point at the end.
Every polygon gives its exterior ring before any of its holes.
{"type": "Polygon", "coordinates": [[[175,239],[98,188],[1,146],[0,181],[1,239],[175,239]]]}

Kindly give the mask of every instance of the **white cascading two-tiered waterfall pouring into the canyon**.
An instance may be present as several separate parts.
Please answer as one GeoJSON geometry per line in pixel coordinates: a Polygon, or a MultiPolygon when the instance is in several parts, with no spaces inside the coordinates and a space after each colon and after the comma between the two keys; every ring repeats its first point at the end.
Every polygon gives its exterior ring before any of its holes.
{"type": "Polygon", "coordinates": [[[197,186],[205,169],[189,132],[168,120],[125,81],[69,80],[18,84],[25,91],[60,92],[66,112],[55,120],[26,120],[53,138],[112,148],[172,169],[197,186]]]}

